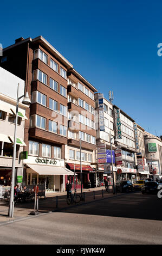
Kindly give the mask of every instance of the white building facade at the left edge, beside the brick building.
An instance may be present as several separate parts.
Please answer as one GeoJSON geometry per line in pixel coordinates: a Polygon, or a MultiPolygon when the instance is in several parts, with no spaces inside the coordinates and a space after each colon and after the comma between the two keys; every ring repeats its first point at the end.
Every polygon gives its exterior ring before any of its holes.
{"type": "MultiPolygon", "coordinates": [[[[0,185],[3,186],[11,185],[18,83],[20,84],[18,96],[24,95],[24,81],[0,68],[0,185]],[[11,84],[12,87],[10,88],[11,84]]],[[[28,108],[21,102],[18,105],[15,183],[21,183],[23,178],[21,153],[26,145],[23,139],[25,120],[27,120],[25,111],[28,108]]]]}

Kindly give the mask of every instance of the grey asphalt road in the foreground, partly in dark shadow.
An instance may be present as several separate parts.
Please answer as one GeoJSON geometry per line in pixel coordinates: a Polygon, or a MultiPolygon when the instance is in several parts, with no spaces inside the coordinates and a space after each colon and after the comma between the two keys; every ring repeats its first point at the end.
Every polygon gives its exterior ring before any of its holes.
{"type": "Polygon", "coordinates": [[[158,245],[161,220],[162,199],[128,193],[4,225],[0,244],[158,245]]]}

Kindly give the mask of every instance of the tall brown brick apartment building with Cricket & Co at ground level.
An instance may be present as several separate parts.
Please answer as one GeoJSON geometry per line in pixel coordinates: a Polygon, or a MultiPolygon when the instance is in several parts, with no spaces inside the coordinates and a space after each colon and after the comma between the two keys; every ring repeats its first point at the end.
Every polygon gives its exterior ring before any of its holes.
{"type": "MultiPolygon", "coordinates": [[[[97,90],[42,36],[19,38],[14,45],[4,48],[1,66],[25,81],[25,92],[31,99],[24,127],[27,145],[24,151],[28,151],[28,159],[24,160],[24,182],[42,184],[46,181],[49,191],[64,191],[66,180],[74,174],[70,150],[79,151],[80,136],[88,174],[92,170],[90,163],[95,161],[95,129],[88,130],[87,123],[81,127],[79,122],[81,112],[85,111],[82,114],[85,122],[91,120],[91,126],[94,125],[90,111],[93,111],[93,94],[97,90]],[[79,114],[69,113],[75,110],[79,114]],[[92,154],[89,160],[93,161],[86,161],[86,154],[87,157],[92,154]]],[[[78,158],[76,153],[76,162],[78,158]]],[[[83,177],[83,184],[88,174],[83,177]]]]}

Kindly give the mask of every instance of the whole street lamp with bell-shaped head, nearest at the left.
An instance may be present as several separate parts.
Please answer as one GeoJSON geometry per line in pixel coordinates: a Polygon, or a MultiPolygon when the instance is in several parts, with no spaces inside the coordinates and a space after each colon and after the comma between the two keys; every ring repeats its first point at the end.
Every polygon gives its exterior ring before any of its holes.
{"type": "Polygon", "coordinates": [[[15,120],[15,132],[14,132],[14,149],[12,157],[12,178],[11,178],[11,190],[10,190],[10,203],[9,203],[9,217],[14,217],[14,183],[15,183],[15,158],[16,158],[16,136],[17,136],[17,115],[18,115],[18,102],[22,97],[24,97],[22,103],[25,105],[30,105],[31,101],[29,99],[28,92],[26,92],[21,97],[18,97],[18,90],[20,84],[17,86],[17,103],[16,103],[16,120],[15,120]]]}

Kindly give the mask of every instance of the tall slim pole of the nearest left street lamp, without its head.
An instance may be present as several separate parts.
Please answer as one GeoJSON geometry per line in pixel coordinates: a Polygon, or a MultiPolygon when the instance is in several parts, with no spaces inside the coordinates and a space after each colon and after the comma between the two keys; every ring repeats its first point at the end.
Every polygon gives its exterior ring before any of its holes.
{"type": "Polygon", "coordinates": [[[17,136],[17,115],[18,115],[18,90],[17,86],[17,103],[16,103],[16,120],[15,120],[15,132],[14,132],[14,149],[12,157],[12,178],[11,178],[11,190],[10,190],[10,203],[9,203],[9,217],[13,217],[14,212],[14,184],[15,184],[15,158],[16,158],[16,136],[17,136]]]}

